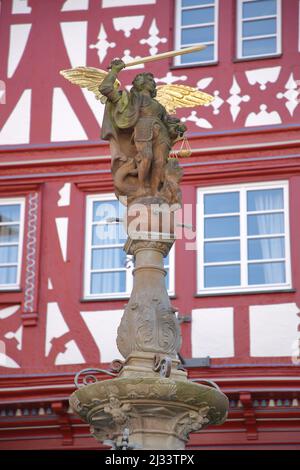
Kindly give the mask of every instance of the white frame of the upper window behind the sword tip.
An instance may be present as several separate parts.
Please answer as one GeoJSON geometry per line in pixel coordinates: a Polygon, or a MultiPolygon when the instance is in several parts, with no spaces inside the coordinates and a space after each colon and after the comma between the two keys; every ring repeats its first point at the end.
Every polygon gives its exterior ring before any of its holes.
{"type": "MultiPolygon", "coordinates": [[[[175,49],[183,49],[184,47],[191,47],[191,46],[196,46],[197,43],[193,44],[185,44],[182,46],[181,44],[181,30],[182,29],[190,29],[191,27],[196,27],[196,26],[212,26],[214,25],[214,41],[210,41],[204,44],[214,45],[214,58],[211,60],[206,60],[206,61],[201,61],[201,62],[188,62],[185,64],[181,63],[181,56],[176,56],[174,58],[174,65],[175,66],[181,66],[181,67],[189,67],[190,65],[203,65],[203,64],[211,64],[214,62],[217,62],[218,60],[218,30],[219,30],[219,0],[215,0],[214,2],[211,2],[210,0],[207,0],[207,5],[199,5],[197,6],[191,6],[191,7],[182,7],[182,0],[176,0],[176,5],[175,5],[175,49]],[[209,6],[214,6],[215,8],[215,18],[213,23],[203,23],[201,25],[188,25],[188,26],[182,26],[181,25],[181,12],[182,10],[193,10],[195,8],[207,8],[209,6]]],[[[200,44],[200,43],[198,43],[200,44]]]]}

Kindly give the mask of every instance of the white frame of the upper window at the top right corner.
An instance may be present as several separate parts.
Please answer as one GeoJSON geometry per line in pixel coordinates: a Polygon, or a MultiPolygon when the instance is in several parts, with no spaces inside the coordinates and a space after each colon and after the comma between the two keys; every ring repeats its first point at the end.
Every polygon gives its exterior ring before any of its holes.
{"type": "Polygon", "coordinates": [[[276,0],[277,2],[277,15],[276,15],[276,31],[277,34],[264,34],[260,36],[251,36],[248,39],[264,39],[264,38],[271,38],[276,37],[276,52],[272,52],[270,54],[262,53],[257,55],[243,55],[243,21],[254,21],[254,20],[267,20],[270,18],[274,18],[274,15],[265,15],[265,16],[253,16],[251,18],[247,18],[246,20],[242,17],[243,12],[243,4],[250,3],[257,0],[237,0],[237,58],[238,59],[255,59],[257,57],[273,57],[281,53],[281,0],[276,0]]]}

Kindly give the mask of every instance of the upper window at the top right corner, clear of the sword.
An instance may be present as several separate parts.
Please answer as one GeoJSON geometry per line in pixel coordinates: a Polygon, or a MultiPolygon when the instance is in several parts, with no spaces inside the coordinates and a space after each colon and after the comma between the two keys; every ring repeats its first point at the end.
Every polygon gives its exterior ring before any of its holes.
{"type": "Polygon", "coordinates": [[[238,58],[281,52],[281,1],[238,0],[238,58]]]}

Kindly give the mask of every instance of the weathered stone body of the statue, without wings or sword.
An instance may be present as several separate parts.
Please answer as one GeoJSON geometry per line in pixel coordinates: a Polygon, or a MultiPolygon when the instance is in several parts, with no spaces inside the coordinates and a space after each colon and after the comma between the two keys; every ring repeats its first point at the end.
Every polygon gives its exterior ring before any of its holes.
{"type": "Polygon", "coordinates": [[[115,82],[124,67],[121,60],[112,61],[99,87],[107,97],[101,136],[110,142],[116,196],[127,197],[129,203],[141,196],[159,196],[180,205],[182,170],[168,157],[186,126],[155,99],[151,73],[138,74],[130,92],[120,93],[115,82]]]}

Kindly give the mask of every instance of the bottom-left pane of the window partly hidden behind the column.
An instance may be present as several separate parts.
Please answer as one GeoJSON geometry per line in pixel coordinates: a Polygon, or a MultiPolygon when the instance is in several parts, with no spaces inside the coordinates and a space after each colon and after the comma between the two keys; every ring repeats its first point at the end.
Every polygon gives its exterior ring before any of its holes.
{"type": "Polygon", "coordinates": [[[126,292],[126,272],[93,273],[91,294],[126,292]]]}

